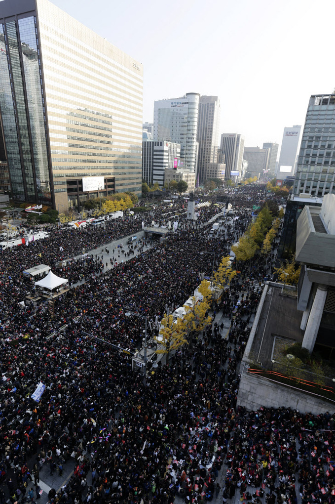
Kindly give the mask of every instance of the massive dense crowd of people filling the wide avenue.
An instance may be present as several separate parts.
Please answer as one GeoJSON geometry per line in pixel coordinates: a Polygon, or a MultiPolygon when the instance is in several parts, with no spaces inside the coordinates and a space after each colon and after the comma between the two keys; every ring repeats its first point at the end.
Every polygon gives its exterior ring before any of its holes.
{"type": "MultiPolygon", "coordinates": [[[[208,221],[220,210],[212,205],[195,222],[180,216],[177,232],[162,243],[146,249],[143,240],[127,258],[121,252],[127,261],[113,255],[109,271],[95,254],[58,270],[72,287],[55,302],[53,318],[45,303],[26,309],[18,303],[29,282],[22,269],[41,250],[39,262],[59,262],[60,232],[36,250],[18,247],[0,256],[0,504],[38,497],[44,474],[62,476],[71,462],[73,474],[49,492],[50,502],[203,504],[235,494],[268,504],[295,504],[298,497],[303,504],[335,502],[332,415],[236,406],[238,362],[261,295],[256,286],[271,275],[275,250],[268,263],[245,264],[213,306],[213,324],[191,333],[169,364],[151,368],[145,379],[132,370],[131,356],[108,344],[138,349],[143,327],[125,312],[147,317],[153,327],[166,305],[183,305],[202,275],[210,276],[207,252],[216,251],[215,269],[229,254],[260,186],[229,191],[238,219],[226,220],[214,237],[208,221]],[[40,382],[45,390],[34,401],[40,382]]],[[[150,218],[165,225],[160,212],[157,205],[150,218]]],[[[83,242],[94,248],[133,232],[128,224],[75,231],[66,246],[73,255],[83,242]]]]}

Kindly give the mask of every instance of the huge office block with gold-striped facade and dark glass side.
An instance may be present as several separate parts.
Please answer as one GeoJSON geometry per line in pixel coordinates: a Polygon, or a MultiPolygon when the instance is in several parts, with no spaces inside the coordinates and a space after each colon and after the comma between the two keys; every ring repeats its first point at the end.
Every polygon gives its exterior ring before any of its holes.
{"type": "Polygon", "coordinates": [[[14,198],[140,195],[142,65],[48,0],[1,2],[0,49],[14,198]]]}

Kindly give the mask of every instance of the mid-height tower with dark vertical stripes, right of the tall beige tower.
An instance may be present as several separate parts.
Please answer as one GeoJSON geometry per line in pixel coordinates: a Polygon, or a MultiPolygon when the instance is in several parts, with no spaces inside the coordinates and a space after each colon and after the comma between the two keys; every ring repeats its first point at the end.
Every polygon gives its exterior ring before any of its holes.
{"type": "Polygon", "coordinates": [[[241,178],[244,151],[244,137],[239,133],[223,133],[220,144],[220,163],[225,163],[225,178],[241,178]],[[233,175],[231,173],[233,172],[233,175]],[[238,174],[237,174],[238,172],[238,174]]]}

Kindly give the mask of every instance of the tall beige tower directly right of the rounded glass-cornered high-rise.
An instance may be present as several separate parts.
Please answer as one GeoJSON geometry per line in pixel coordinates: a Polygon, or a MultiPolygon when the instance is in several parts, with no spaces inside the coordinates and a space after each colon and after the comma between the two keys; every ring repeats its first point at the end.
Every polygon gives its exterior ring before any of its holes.
{"type": "Polygon", "coordinates": [[[217,162],[220,112],[220,100],[217,96],[200,96],[197,170],[197,177],[199,177],[200,183],[205,179],[206,165],[217,162]]]}

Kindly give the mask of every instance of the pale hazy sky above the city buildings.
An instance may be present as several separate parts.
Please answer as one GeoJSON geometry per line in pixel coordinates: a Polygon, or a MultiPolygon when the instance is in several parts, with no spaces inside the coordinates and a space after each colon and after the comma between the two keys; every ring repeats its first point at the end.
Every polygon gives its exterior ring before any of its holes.
{"type": "Polygon", "coordinates": [[[334,0],[52,2],[143,63],[144,121],[154,100],[217,95],[220,133],[281,144],[335,87],[334,0]]]}

